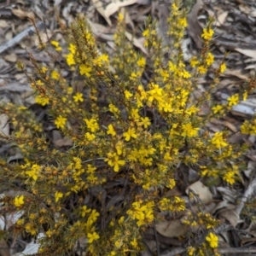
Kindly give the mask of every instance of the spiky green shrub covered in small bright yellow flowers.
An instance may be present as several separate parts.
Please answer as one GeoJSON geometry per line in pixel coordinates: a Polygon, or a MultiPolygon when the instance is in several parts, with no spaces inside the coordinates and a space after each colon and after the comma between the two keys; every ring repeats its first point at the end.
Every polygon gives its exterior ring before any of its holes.
{"type": "MultiPolygon", "coordinates": [[[[221,105],[212,101],[225,70],[224,60],[212,67],[212,21],[203,31],[201,54],[188,63],[181,49],[187,13],[174,2],[167,32],[172,45],[162,44],[155,22],[148,20],[143,31],[147,54],[135,49],[119,14],[115,49],[108,55],[81,16],[68,29],[67,50],[56,41],[51,42],[55,53],[41,45],[56,67],[42,66],[32,55],[33,73],[19,63],[47,115],[42,120],[31,108],[1,106],[13,127],[1,139],[22,154],[22,160],[9,163],[5,155],[0,162],[1,185],[12,191],[1,201],[7,212],[22,212],[15,232],[44,232],[39,253],[67,255],[80,248],[86,255],[136,255],[145,249],[142,236],[148,227],[186,212],[184,224],[200,224],[204,232],[198,244],[193,230],[186,236],[189,255],[218,254],[213,230],[218,220],[202,206],[192,214],[181,196],[162,195],[181,183],[181,166],[193,167],[208,185],[239,180],[247,146],[230,144],[229,131],[211,133],[205,124],[250,91],[221,105]],[[197,79],[209,70],[212,84],[196,96],[197,79]],[[206,102],[207,113],[200,113],[206,102]],[[61,131],[65,150],[53,143],[45,121],[61,131]]],[[[248,85],[252,89],[253,80],[248,85]]],[[[250,131],[247,125],[242,130],[254,132],[251,125],[250,131]]]]}

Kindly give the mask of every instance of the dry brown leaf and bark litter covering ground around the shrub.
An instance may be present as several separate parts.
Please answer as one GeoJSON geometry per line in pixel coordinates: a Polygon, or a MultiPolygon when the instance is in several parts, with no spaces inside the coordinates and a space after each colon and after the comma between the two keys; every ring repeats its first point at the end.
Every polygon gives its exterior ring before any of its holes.
{"type": "MultiPolygon", "coordinates": [[[[185,2],[185,1],[184,1],[185,2]]],[[[192,1],[186,1],[189,4],[192,1]]],[[[0,101],[15,102],[32,108],[38,115],[42,108],[34,102],[32,89],[24,73],[16,69],[16,62],[26,64],[28,72],[32,72],[32,64],[28,53],[38,62],[53,65],[49,55],[38,50],[38,37],[29,19],[34,19],[38,31],[44,42],[56,40],[63,44],[64,36],[61,28],[67,27],[78,14],[86,15],[92,32],[101,44],[105,44],[109,52],[113,51],[113,32],[117,22],[117,12],[125,13],[127,32],[136,37],[133,44],[145,53],[143,48],[143,24],[148,15],[159,20],[158,29],[164,42],[166,32],[166,17],[170,3],[166,1],[150,0],[6,0],[0,2],[0,101]]],[[[189,59],[201,49],[202,27],[209,16],[215,17],[215,34],[212,43],[212,53],[216,62],[224,59],[225,52],[227,70],[220,79],[220,83],[213,94],[215,101],[223,102],[241,88],[248,79],[255,76],[256,71],[256,3],[249,0],[197,0],[192,4],[188,16],[189,26],[183,40],[183,55],[189,59]]],[[[129,38],[129,37],[128,37],[129,38]]],[[[68,79],[68,78],[67,78],[68,79]]],[[[198,88],[207,88],[212,79],[211,73],[199,79],[198,88]]],[[[199,90],[199,91],[200,91],[199,90]]],[[[200,92],[199,92],[200,93],[200,92]]],[[[207,108],[207,106],[206,106],[207,108]]],[[[202,108],[201,112],[207,111],[202,108]]],[[[240,102],[230,114],[223,119],[215,119],[207,124],[209,131],[221,131],[224,128],[233,132],[230,143],[246,141],[252,145],[247,155],[247,169],[242,173],[241,183],[230,188],[225,185],[207,189],[198,181],[196,172],[186,170],[186,182],[189,188],[172,189],[167,195],[187,196],[188,189],[198,195],[205,204],[208,212],[221,220],[222,225],[216,229],[219,234],[218,252],[222,255],[256,255],[256,227],[241,215],[247,200],[255,196],[256,180],[254,177],[256,166],[255,136],[245,137],[238,131],[242,120],[250,119],[256,111],[256,98],[249,96],[247,102],[240,102]]],[[[1,114],[1,113],[0,113],[1,114]]],[[[9,133],[7,120],[0,116],[0,129],[9,133]]],[[[52,131],[53,124],[46,124],[46,130],[52,131]]],[[[52,140],[56,147],[67,147],[70,142],[61,134],[52,131],[52,140]]],[[[0,154],[5,154],[9,145],[0,147],[0,154]]],[[[12,155],[9,160],[17,160],[20,155],[12,155]]],[[[3,193],[3,191],[1,191],[3,193]]],[[[114,200],[114,199],[113,199],[114,200]]],[[[108,202],[109,203],[109,202],[108,202]]],[[[19,216],[16,216],[19,218],[19,216]]],[[[0,218],[2,219],[2,218],[0,218]]],[[[9,220],[10,221],[10,220],[9,220]]],[[[15,220],[13,220],[15,222],[15,220]]],[[[9,229],[11,224],[1,221],[1,228],[9,229]]],[[[149,229],[143,241],[148,251],[142,256],[160,255],[172,256],[184,254],[186,248],[178,236],[183,236],[188,227],[178,219],[171,219],[156,224],[149,229]]],[[[198,236],[198,242],[201,237],[198,236]]],[[[37,253],[37,244],[30,241],[0,241],[0,255],[21,255],[20,253],[37,253]],[[17,246],[18,243],[18,246],[17,246]]]]}

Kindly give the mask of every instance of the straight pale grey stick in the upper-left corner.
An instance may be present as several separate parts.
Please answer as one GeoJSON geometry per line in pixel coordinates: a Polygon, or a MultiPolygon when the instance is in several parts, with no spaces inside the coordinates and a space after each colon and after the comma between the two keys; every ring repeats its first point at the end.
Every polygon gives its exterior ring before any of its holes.
{"type": "MultiPolygon", "coordinates": [[[[39,21],[36,26],[39,30],[42,30],[44,28],[44,22],[39,21]]],[[[26,38],[27,36],[31,36],[34,32],[36,32],[36,28],[34,26],[29,26],[26,28],[25,31],[20,32],[18,35],[15,36],[15,38],[12,38],[7,43],[0,46],[0,54],[2,54],[5,50],[12,48],[15,46],[15,44],[19,44],[20,41],[23,38],[26,38]]]]}

